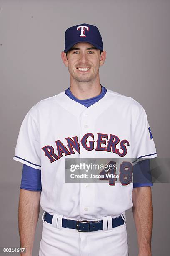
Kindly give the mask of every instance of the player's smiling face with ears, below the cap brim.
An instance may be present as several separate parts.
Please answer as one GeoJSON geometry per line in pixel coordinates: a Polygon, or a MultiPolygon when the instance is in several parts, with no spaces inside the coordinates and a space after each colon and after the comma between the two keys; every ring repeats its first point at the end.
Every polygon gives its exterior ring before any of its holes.
{"type": "Polygon", "coordinates": [[[70,78],[77,82],[90,82],[99,76],[99,67],[104,63],[105,51],[101,53],[92,44],[81,42],[75,44],[62,60],[68,67],[70,78]]]}

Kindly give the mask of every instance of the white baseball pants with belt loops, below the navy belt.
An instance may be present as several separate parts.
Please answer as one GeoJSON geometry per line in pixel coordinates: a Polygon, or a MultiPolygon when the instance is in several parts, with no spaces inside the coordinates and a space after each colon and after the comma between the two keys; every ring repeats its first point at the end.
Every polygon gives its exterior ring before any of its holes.
{"type": "Polygon", "coordinates": [[[52,224],[44,214],[42,219],[39,256],[128,256],[126,223],[112,228],[110,216],[102,218],[103,230],[92,232],[61,227],[62,215],[57,215],[57,222],[53,217],[52,224]]]}

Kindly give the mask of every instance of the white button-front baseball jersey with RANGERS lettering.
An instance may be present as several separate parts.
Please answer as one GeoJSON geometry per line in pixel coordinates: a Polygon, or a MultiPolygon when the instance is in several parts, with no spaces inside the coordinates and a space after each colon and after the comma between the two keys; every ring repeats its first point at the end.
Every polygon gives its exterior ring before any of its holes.
{"type": "Polygon", "coordinates": [[[133,183],[65,183],[65,158],[157,157],[142,105],[107,89],[86,108],[65,92],[41,100],[25,116],[14,160],[41,169],[40,205],[74,220],[118,216],[133,206],[133,183]]]}

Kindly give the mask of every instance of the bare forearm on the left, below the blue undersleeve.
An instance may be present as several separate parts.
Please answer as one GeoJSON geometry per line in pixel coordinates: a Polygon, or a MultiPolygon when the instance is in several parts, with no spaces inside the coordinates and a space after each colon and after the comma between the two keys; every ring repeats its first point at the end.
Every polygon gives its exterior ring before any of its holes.
{"type": "Polygon", "coordinates": [[[40,191],[20,189],[18,207],[20,247],[26,247],[26,253],[21,253],[20,255],[32,256],[32,248],[39,212],[40,191]]]}

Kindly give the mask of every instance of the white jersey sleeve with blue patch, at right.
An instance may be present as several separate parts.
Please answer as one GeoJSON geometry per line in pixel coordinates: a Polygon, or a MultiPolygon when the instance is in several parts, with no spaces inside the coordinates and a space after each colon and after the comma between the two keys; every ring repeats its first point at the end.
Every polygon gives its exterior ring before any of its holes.
{"type": "Polygon", "coordinates": [[[157,157],[153,135],[148,123],[147,114],[142,107],[138,121],[133,129],[133,159],[134,163],[141,158],[157,157]]]}

